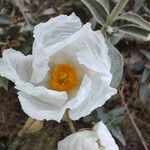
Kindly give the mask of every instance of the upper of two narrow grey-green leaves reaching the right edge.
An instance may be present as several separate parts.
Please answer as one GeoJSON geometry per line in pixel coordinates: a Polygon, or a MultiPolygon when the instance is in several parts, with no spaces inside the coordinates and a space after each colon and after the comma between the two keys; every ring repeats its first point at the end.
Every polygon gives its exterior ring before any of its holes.
{"type": "Polygon", "coordinates": [[[131,23],[137,24],[137,25],[141,26],[142,28],[150,31],[150,22],[146,21],[141,16],[139,16],[135,13],[128,12],[128,13],[122,14],[117,18],[117,20],[118,19],[129,21],[131,23]]]}

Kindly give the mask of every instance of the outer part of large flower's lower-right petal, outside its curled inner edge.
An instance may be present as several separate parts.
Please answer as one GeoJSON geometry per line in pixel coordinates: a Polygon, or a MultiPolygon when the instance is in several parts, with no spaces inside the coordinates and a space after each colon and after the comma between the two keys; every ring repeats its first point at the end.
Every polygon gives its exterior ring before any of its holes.
{"type": "Polygon", "coordinates": [[[78,120],[81,117],[89,115],[94,109],[101,107],[105,102],[117,93],[117,90],[105,85],[100,78],[100,74],[92,75],[91,92],[87,99],[76,109],[69,110],[69,116],[72,120],[78,120]]]}

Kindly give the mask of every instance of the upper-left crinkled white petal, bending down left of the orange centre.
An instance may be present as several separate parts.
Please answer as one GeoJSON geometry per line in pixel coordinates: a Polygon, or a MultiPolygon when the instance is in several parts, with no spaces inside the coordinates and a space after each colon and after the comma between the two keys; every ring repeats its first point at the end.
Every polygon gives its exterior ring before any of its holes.
{"type": "MultiPolygon", "coordinates": [[[[42,81],[49,70],[49,55],[44,49],[55,43],[62,42],[81,28],[80,19],[73,13],[70,16],[60,15],[46,23],[40,23],[34,29],[32,81],[42,81]]],[[[49,51],[52,51],[49,49],[49,51]]]]}

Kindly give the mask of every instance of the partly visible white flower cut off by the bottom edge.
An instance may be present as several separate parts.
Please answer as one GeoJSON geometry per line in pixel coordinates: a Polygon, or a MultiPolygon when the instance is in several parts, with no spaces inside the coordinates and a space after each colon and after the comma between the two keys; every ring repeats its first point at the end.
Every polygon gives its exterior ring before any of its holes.
{"type": "Polygon", "coordinates": [[[119,150],[119,148],[104,123],[99,122],[93,130],[76,132],[59,141],[58,150],[119,150]]]}

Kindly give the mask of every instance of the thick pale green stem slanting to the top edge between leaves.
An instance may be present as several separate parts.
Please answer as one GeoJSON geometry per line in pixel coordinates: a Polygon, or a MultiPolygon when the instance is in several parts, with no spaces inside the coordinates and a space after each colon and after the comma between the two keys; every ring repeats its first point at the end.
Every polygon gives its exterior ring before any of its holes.
{"type": "Polygon", "coordinates": [[[127,4],[129,0],[119,0],[114,9],[112,10],[111,14],[108,17],[107,25],[110,26],[113,21],[118,17],[120,12],[123,10],[125,5],[127,4]]]}

